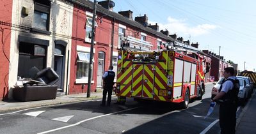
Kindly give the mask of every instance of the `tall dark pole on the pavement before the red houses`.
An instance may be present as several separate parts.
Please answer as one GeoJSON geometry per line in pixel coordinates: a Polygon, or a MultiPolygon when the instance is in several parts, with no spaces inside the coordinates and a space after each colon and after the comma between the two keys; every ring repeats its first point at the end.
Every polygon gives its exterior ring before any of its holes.
{"type": "Polygon", "coordinates": [[[92,58],[93,58],[93,46],[94,46],[94,36],[95,36],[95,16],[96,16],[96,0],[93,3],[93,17],[92,17],[92,38],[91,38],[91,50],[90,50],[90,66],[89,66],[89,76],[88,76],[88,89],[87,98],[91,96],[91,84],[92,84],[92,58]]]}

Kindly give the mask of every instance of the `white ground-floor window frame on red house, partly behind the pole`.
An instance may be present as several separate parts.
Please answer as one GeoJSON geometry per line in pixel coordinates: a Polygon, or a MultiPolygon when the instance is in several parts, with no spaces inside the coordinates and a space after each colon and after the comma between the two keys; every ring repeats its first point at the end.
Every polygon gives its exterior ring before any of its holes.
{"type": "MultiPolygon", "coordinates": [[[[83,53],[89,53],[90,54],[90,47],[83,47],[81,45],[77,45],[77,56],[78,54],[83,54],[83,53]]],[[[93,48],[93,55],[95,54],[95,48],[93,48]]],[[[79,61],[79,59],[77,59],[77,61],[79,62],[86,62],[89,63],[90,59],[84,59],[86,61],[79,61]]],[[[76,61],[76,62],[77,62],[76,61]]],[[[93,57],[93,64],[94,64],[94,57],[93,57]]],[[[93,68],[92,68],[93,70],[93,68]]],[[[77,70],[76,70],[77,71],[77,70]]],[[[93,72],[93,71],[92,71],[93,72]]],[[[93,78],[93,77],[92,77],[93,78]]],[[[88,77],[84,77],[84,78],[76,78],[76,84],[87,84],[88,83],[88,77]]],[[[92,80],[92,83],[94,83],[94,80],[92,80]]]]}

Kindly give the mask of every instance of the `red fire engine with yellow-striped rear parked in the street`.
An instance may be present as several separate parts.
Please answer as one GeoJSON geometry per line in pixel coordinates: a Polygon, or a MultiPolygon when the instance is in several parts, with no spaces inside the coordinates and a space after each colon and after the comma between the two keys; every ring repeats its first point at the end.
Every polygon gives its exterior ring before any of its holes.
{"type": "Polygon", "coordinates": [[[204,94],[204,56],[197,48],[166,44],[165,50],[118,51],[117,96],[180,103],[204,94]]]}

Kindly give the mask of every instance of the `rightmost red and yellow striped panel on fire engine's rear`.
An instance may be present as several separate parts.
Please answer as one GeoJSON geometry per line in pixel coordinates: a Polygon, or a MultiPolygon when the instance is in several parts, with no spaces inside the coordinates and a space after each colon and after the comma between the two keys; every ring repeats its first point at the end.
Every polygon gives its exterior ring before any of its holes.
{"type": "Polygon", "coordinates": [[[166,96],[159,96],[160,90],[166,90],[168,89],[167,86],[167,76],[166,76],[166,61],[168,59],[167,52],[162,52],[161,57],[159,57],[160,60],[163,62],[157,62],[156,63],[156,71],[155,71],[155,84],[154,84],[154,100],[161,100],[161,101],[169,101],[168,94],[166,96]]]}

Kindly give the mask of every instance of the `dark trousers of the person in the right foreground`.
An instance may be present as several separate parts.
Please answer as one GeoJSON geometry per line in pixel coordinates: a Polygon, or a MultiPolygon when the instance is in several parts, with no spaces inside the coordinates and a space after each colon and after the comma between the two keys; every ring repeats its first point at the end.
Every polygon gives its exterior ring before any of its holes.
{"type": "Polygon", "coordinates": [[[235,103],[220,104],[220,128],[221,134],[236,133],[236,110],[235,103]]]}

